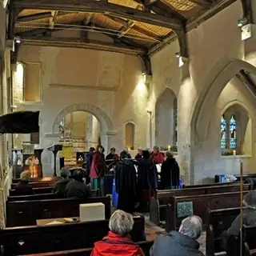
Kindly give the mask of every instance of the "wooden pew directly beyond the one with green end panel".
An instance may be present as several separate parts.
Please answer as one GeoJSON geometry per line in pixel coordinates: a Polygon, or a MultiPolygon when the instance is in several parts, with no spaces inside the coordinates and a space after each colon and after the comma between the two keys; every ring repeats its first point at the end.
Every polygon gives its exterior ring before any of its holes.
{"type": "MultiPolygon", "coordinates": [[[[243,190],[248,190],[249,185],[245,184],[243,190]]],[[[195,187],[182,190],[157,190],[154,198],[150,199],[150,222],[155,225],[159,225],[160,222],[166,220],[166,206],[170,204],[170,198],[172,196],[189,196],[198,194],[217,194],[227,192],[240,191],[240,185],[238,183],[228,186],[205,186],[195,187]]]]}

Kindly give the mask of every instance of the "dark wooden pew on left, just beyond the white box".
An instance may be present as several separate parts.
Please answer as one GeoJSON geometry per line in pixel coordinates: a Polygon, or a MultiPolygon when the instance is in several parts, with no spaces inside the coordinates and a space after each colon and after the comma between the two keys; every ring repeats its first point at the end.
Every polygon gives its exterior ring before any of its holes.
{"type": "Polygon", "coordinates": [[[110,197],[16,201],[6,202],[6,226],[33,226],[37,219],[77,217],[79,205],[92,202],[102,202],[105,218],[110,218],[110,197]]]}

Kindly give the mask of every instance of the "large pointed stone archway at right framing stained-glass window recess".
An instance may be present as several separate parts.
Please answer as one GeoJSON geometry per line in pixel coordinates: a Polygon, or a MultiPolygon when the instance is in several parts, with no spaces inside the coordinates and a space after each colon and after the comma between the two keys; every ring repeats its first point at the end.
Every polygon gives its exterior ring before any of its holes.
{"type": "MultiPolygon", "coordinates": [[[[239,102],[241,99],[242,102],[246,104],[249,102],[249,105],[253,106],[255,94],[246,82],[239,79],[242,70],[249,74],[256,74],[256,68],[247,62],[238,59],[221,60],[207,74],[201,86],[202,92],[199,94],[190,122],[190,177],[188,180],[192,184],[213,182],[214,174],[236,174],[239,171],[238,161],[221,156],[221,117],[228,109],[226,106],[234,105],[234,114],[237,117],[242,114],[241,120],[246,124],[241,129],[246,130],[248,114],[245,114],[246,111],[240,106],[238,108],[234,102],[239,102]]],[[[232,136],[229,143],[234,141],[232,136]]],[[[238,152],[242,151],[242,148],[243,146],[239,145],[238,152]]]]}

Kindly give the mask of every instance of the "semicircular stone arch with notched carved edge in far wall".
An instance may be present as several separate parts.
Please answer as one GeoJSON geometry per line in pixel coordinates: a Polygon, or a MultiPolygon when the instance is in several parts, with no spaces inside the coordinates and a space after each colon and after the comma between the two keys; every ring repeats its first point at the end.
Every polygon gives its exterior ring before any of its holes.
{"type": "Polygon", "coordinates": [[[58,134],[58,125],[59,122],[62,121],[62,118],[64,118],[66,114],[70,114],[74,111],[85,111],[90,114],[93,114],[100,123],[102,134],[114,133],[113,123],[111,121],[110,116],[106,113],[105,110],[102,110],[102,108],[94,106],[90,103],[80,102],[74,103],[70,106],[66,106],[61,112],[58,113],[58,116],[55,118],[52,128],[53,134],[58,134]]]}

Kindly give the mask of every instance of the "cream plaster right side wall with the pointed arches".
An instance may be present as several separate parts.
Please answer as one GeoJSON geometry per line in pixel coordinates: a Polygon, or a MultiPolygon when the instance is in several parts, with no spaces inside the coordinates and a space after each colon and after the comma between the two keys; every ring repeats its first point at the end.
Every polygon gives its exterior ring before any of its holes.
{"type": "MultiPolygon", "coordinates": [[[[178,68],[178,59],[175,58],[175,52],[179,51],[177,41],[171,42],[150,58],[153,80],[148,106],[153,110],[152,134],[155,126],[154,104],[167,86],[178,96],[178,161],[186,182],[209,182],[213,181],[214,174],[237,172],[233,171],[232,164],[226,163],[226,159],[220,158],[219,143],[218,146],[216,144],[219,138],[217,130],[213,135],[209,128],[210,116],[214,114],[214,108],[217,108],[217,100],[218,106],[227,104],[225,98],[218,99],[218,96],[226,83],[242,69],[244,62],[235,62],[234,59],[249,62],[254,66],[256,64],[255,38],[241,41],[241,30],[237,26],[238,18],[241,17],[242,7],[237,1],[191,30],[188,34],[189,65],[178,68]],[[218,83],[215,81],[217,78],[218,83]],[[212,99],[209,100],[210,94],[205,99],[204,96],[213,85],[214,89],[210,92],[212,99]],[[206,119],[207,122],[202,122],[206,119]],[[214,148],[211,143],[215,143],[214,148]]],[[[255,72],[253,66],[244,65],[255,72]]],[[[250,98],[251,101],[247,103],[249,99],[245,97],[247,92],[244,90],[229,91],[229,101],[242,100],[250,108],[255,99],[250,98]]],[[[154,144],[154,135],[152,141],[154,144]]],[[[252,166],[255,158],[253,150],[252,158],[244,165],[246,172],[254,172],[252,166]]]]}

